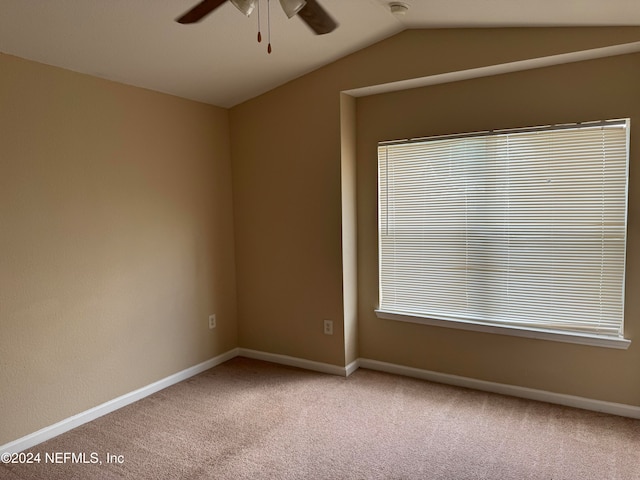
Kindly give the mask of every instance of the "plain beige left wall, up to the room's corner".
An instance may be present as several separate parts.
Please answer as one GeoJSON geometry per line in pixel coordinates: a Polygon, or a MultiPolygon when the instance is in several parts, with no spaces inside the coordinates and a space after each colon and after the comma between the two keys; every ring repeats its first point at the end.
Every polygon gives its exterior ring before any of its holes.
{"type": "Polygon", "coordinates": [[[1,445],[236,347],[237,325],[228,111],[0,72],[1,445]]]}

